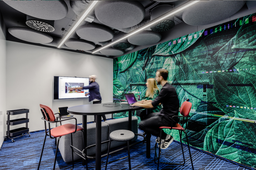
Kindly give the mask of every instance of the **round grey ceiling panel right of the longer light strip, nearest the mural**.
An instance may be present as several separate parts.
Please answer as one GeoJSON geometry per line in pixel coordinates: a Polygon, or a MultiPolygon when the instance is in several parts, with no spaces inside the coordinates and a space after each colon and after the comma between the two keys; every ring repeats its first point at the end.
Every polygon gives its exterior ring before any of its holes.
{"type": "Polygon", "coordinates": [[[131,44],[137,46],[146,46],[159,42],[162,36],[155,31],[140,31],[132,36],[128,37],[128,41],[131,44]]]}

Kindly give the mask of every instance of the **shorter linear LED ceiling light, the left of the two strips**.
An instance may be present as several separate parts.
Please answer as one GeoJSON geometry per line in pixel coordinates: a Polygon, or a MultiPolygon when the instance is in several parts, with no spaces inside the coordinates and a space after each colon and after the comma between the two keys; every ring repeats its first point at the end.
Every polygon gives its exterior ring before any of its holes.
{"type": "Polygon", "coordinates": [[[74,32],[74,30],[77,28],[77,26],[84,20],[84,18],[87,16],[87,14],[92,10],[92,8],[97,4],[98,1],[91,1],[90,4],[87,6],[87,8],[84,10],[84,12],[80,15],[77,22],[73,25],[71,30],[68,32],[68,34],[65,36],[65,38],[61,41],[61,43],[58,45],[58,48],[62,46],[62,44],[67,40],[67,38],[74,32]]]}

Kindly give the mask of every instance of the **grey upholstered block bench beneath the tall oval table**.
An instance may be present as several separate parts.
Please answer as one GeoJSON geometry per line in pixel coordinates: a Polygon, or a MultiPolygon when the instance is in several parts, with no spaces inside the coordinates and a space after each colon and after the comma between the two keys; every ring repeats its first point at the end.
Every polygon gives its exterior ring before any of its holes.
{"type": "MultiPolygon", "coordinates": [[[[62,124],[70,123],[69,121],[63,121],[62,124]]],[[[60,124],[57,123],[57,126],[60,124]]],[[[113,120],[107,120],[105,122],[101,122],[101,142],[110,140],[110,133],[116,130],[128,130],[128,118],[119,118],[113,120]]],[[[138,118],[132,116],[132,131],[133,133],[138,133],[138,118]]],[[[95,136],[96,136],[96,123],[87,124],[87,146],[95,144],[95,136]]],[[[61,137],[59,142],[59,150],[64,162],[72,162],[72,152],[71,152],[71,135],[65,135],[61,137]]],[[[135,141],[137,136],[135,136],[132,141],[135,141]]],[[[83,150],[83,135],[81,131],[76,132],[73,134],[73,146],[79,150],[83,150]]],[[[110,147],[116,147],[127,142],[111,142],[110,147]]],[[[101,145],[101,152],[107,150],[108,143],[104,143],[101,145]]],[[[95,154],[95,147],[87,149],[87,156],[91,156],[95,154]]],[[[74,160],[81,159],[80,156],[74,154],[74,160]]]]}

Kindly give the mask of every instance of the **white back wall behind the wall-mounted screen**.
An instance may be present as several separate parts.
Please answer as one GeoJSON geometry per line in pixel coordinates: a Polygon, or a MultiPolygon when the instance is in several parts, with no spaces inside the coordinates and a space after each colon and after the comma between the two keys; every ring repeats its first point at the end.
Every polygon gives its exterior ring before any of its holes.
{"type": "MultiPolygon", "coordinates": [[[[44,129],[39,104],[48,105],[57,113],[58,107],[92,103],[89,99],[53,100],[54,76],[96,74],[102,102],[113,101],[113,59],[11,41],[7,41],[6,49],[6,109],[29,109],[29,131],[44,129]]],[[[75,117],[77,123],[82,123],[82,116],[75,117]]],[[[87,117],[87,121],[93,120],[93,116],[87,117]]]]}

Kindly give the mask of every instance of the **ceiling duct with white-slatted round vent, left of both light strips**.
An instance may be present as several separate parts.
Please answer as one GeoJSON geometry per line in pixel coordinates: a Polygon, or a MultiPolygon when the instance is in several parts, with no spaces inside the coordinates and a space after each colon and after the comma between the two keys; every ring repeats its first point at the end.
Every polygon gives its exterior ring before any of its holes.
{"type": "Polygon", "coordinates": [[[35,18],[27,15],[26,24],[38,31],[43,32],[53,32],[54,31],[54,20],[44,20],[40,18],[35,18]]]}

